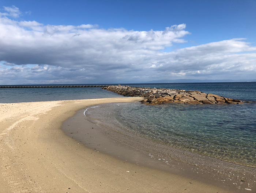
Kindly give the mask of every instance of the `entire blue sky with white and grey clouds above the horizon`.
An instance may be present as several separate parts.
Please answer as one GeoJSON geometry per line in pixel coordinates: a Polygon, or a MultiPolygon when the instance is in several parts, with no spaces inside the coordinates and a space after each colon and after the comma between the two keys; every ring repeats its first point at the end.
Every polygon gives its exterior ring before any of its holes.
{"type": "Polygon", "coordinates": [[[0,84],[256,80],[255,0],[1,0],[0,84]]]}

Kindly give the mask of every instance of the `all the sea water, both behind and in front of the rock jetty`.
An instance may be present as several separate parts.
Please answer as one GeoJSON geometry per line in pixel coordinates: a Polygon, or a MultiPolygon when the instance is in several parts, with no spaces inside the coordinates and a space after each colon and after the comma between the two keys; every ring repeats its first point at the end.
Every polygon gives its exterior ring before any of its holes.
{"type": "MultiPolygon", "coordinates": [[[[242,101],[242,105],[147,106],[113,103],[85,116],[148,140],[208,157],[256,167],[256,82],[122,84],[198,90],[242,101]]],[[[101,88],[0,88],[0,103],[123,97],[101,88]]]]}

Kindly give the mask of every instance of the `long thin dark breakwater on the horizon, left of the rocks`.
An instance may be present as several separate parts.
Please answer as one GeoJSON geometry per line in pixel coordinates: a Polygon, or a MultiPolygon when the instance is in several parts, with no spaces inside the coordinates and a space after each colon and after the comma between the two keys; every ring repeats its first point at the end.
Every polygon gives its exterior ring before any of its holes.
{"type": "Polygon", "coordinates": [[[0,88],[104,88],[106,85],[24,85],[24,86],[0,86],[0,88]]]}

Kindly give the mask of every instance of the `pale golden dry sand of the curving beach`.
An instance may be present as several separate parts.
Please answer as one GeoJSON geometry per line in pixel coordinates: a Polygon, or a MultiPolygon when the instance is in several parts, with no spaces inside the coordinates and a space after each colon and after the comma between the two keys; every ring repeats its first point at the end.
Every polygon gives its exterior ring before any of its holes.
{"type": "Polygon", "coordinates": [[[0,192],[226,192],[91,150],[60,129],[87,106],[140,100],[0,104],[0,192]]]}

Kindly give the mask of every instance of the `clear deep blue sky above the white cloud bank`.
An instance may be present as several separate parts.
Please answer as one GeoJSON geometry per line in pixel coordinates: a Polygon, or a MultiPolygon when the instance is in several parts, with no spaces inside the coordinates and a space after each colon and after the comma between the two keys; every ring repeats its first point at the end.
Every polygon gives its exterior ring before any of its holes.
{"type": "Polygon", "coordinates": [[[187,24],[191,44],[223,39],[246,38],[256,43],[255,0],[167,0],[167,1],[12,1],[23,12],[20,19],[51,25],[98,24],[100,28],[125,28],[138,31],[162,30],[174,24],[187,24]]]}

